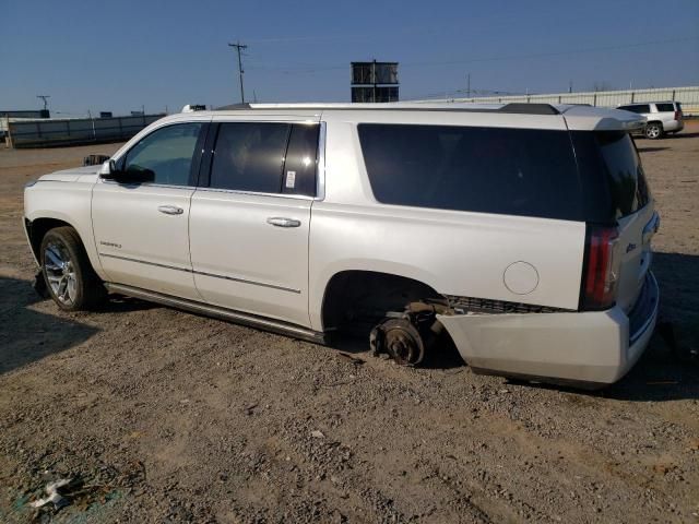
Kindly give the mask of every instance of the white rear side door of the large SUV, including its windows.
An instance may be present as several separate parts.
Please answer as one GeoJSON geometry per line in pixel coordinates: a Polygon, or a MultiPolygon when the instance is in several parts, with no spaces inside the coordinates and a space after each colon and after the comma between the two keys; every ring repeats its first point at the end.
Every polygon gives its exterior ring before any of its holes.
{"type": "Polygon", "coordinates": [[[268,117],[212,129],[189,227],[194,282],[209,303],[310,325],[308,234],[319,128],[268,117]]]}

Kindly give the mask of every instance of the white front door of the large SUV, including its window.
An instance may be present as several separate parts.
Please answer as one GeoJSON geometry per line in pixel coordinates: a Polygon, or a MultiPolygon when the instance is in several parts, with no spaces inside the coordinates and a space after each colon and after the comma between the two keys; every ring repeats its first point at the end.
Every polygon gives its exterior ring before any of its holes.
{"type": "Polygon", "coordinates": [[[95,242],[110,282],[201,300],[188,221],[205,127],[187,122],[156,129],[117,160],[125,172],[119,181],[95,184],[95,242]]]}

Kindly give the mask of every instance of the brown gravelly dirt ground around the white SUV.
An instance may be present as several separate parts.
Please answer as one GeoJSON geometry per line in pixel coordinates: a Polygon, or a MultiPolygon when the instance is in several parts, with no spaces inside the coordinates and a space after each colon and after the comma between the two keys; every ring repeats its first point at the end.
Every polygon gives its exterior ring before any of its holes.
{"type": "Polygon", "coordinates": [[[117,145],[0,150],[0,522],[699,523],[699,124],[638,141],[657,334],[590,393],[408,369],[152,306],[31,288],[22,188],[117,145]],[[71,478],[70,504],[29,502],[71,478]]]}

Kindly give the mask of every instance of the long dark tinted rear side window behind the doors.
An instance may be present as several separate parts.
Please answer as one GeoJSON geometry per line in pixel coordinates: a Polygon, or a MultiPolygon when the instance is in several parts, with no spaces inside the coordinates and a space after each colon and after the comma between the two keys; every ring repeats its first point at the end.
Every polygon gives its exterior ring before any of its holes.
{"type": "Polygon", "coordinates": [[[360,124],[376,199],[387,204],[583,219],[566,131],[360,124]]]}

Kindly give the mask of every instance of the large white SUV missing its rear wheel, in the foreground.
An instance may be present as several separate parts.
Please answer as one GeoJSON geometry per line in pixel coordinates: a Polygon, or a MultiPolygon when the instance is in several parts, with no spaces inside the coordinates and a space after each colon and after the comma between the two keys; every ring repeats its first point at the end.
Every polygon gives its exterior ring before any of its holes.
{"type": "Polygon", "coordinates": [[[606,384],[645,348],[659,217],[627,111],[259,105],[180,114],[29,184],[64,310],[130,295],[418,364],[606,384]]]}

